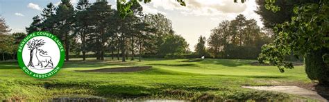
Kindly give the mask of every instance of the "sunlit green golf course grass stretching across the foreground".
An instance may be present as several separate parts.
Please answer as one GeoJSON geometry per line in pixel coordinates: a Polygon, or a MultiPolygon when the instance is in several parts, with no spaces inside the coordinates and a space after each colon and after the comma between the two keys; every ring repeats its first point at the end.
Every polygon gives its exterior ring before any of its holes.
{"type": "Polygon", "coordinates": [[[49,79],[35,79],[17,63],[0,63],[0,99],[48,99],[63,95],[151,99],[292,99],[296,96],[241,88],[242,85],[294,85],[310,83],[303,66],[281,73],[274,66],[255,66],[255,60],[146,59],[128,61],[79,61],[65,63],[49,79]],[[142,72],[76,72],[99,68],[151,65],[142,72]]]}

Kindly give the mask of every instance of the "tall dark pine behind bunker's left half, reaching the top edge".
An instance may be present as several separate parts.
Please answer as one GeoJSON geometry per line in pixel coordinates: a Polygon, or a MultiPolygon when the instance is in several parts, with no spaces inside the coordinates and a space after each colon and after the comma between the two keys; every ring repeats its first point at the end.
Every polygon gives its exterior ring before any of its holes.
{"type": "Polygon", "coordinates": [[[112,19],[115,14],[108,2],[96,2],[90,8],[87,8],[87,14],[90,17],[90,30],[88,35],[88,44],[92,45],[90,48],[96,53],[96,59],[104,60],[104,54],[106,51],[106,42],[109,37],[113,35],[112,25],[114,21],[112,19]]]}

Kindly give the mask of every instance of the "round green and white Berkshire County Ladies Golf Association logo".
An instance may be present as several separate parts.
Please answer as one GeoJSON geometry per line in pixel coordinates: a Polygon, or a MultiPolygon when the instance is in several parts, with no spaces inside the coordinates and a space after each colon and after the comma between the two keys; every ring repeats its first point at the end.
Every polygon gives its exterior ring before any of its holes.
{"type": "Polygon", "coordinates": [[[33,32],[19,43],[19,67],[37,79],[56,74],[62,68],[64,59],[64,46],[58,37],[49,32],[33,32]]]}

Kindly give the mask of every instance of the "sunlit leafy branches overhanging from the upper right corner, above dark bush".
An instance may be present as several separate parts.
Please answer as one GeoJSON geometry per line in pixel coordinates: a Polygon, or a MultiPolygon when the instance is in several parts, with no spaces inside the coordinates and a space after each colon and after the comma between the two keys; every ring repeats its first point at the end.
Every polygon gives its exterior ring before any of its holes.
{"type": "Polygon", "coordinates": [[[284,62],[284,57],[292,52],[295,55],[305,55],[312,50],[328,48],[325,38],[328,37],[326,17],[329,16],[329,9],[326,8],[326,3],[304,3],[296,6],[296,16],[292,17],[292,21],[278,25],[274,43],[262,48],[260,62],[270,61],[273,65],[278,65],[282,72],[283,68],[293,68],[291,63],[284,62]]]}

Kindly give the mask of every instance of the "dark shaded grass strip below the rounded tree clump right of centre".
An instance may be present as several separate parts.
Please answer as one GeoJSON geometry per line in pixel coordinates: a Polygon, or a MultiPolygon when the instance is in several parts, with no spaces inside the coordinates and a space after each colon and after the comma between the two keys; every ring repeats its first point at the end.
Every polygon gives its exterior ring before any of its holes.
{"type": "Polygon", "coordinates": [[[228,67],[237,67],[241,65],[250,65],[250,61],[242,59],[205,59],[200,61],[203,64],[217,64],[224,65],[228,67]]]}

